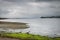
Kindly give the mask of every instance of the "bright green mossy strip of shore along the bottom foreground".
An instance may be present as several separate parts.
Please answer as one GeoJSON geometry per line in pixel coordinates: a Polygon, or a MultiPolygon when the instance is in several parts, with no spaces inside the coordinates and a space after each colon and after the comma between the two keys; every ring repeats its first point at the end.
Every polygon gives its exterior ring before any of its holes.
{"type": "Polygon", "coordinates": [[[34,34],[27,34],[27,33],[2,33],[0,37],[7,37],[7,38],[18,38],[20,40],[60,40],[60,38],[50,38],[47,36],[40,36],[34,34]]]}

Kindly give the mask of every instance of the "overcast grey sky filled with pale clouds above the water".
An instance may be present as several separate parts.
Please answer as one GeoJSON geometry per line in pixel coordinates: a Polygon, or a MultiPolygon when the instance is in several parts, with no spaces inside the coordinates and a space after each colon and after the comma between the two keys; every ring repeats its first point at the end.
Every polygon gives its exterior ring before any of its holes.
{"type": "Polygon", "coordinates": [[[60,16],[58,0],[0,0],[0,17],[37,18],[60,16]]]}

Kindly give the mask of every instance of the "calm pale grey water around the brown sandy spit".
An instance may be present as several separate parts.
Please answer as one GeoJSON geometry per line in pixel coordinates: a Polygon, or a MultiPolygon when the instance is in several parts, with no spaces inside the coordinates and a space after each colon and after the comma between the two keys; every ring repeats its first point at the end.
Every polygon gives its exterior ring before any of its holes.
{"type": "Polygon", "coordinates": [[[28,23],[30,28],[18,29],[17,32],[28,32],[32,34],[49,35],[49,36],[60,36],[60,19],[59,18],[37,18],[37,19],[6,19],[0,21],[13,21],[13,22],[24,22],[28,23]],[[54,35],[56,34],[56,35],[54,35]]]}

